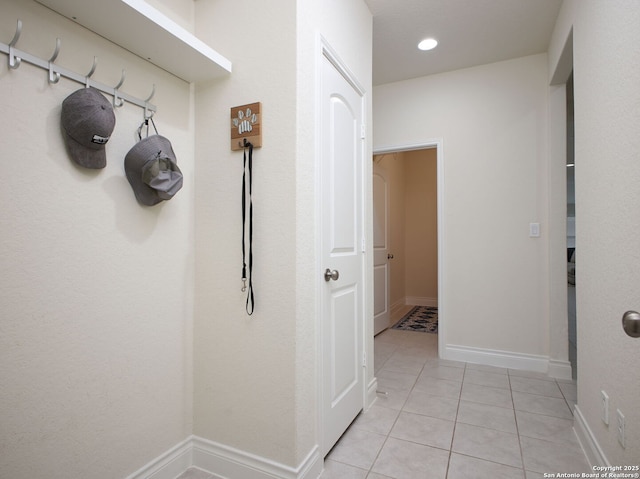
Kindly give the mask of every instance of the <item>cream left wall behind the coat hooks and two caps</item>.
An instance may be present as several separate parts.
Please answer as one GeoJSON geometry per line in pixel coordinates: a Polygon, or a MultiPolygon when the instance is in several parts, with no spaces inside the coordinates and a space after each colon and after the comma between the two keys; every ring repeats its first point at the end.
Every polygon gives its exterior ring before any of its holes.
{"type": "Polygon", "coordinates": [[[124,477],[192,430],[194,152],[188,84],[35,2],[2,0],[0,38],[153,103],[185,176],[139,206],[123,159],[142,110],[116,110],[100,171],[76,167],[60,105],[82,85],[0,55],[0,476],[124,477]]]}

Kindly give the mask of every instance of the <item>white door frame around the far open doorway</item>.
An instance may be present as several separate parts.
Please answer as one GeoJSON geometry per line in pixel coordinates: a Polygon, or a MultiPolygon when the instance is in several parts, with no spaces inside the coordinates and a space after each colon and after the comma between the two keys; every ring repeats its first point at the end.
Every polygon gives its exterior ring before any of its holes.
{"type": "MultiPolygon", "coordinates": [[[[438,356],[446,351],[446,302],[445,302],[445,268],[444,251],[445,243],[445,204],[444,204],[444,150],[442,138],[428,139],[420,143],[399,143],[396,145],[386,145],[373,148],[373,155],[383,155],[388,153],[400,153],[403,151],[424,150],[427,148],[436,149],[437,157],[437,227],[438,227],[438,356]]],[[[373,156],[372,156],[373,157],[373,156]]],[[[373,225],[368,225],[370,234],[373,235],[373,225]]]]}

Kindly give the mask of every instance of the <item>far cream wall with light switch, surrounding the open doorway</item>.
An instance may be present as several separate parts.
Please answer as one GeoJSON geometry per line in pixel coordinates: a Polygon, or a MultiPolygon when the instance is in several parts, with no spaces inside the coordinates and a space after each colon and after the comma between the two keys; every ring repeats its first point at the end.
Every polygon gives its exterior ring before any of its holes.
{"type": "Polygon", "coordinates": [[[547,91],[544,54],[374,89],[375,150],[443,142],[449,345],[549,353],[547,91]]]}

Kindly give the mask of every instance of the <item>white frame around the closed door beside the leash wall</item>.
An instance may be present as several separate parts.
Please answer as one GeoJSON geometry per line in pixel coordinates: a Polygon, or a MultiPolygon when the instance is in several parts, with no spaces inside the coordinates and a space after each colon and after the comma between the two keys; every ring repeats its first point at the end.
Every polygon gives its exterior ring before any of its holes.
{"type": "MultiPolygon", "coordinates": [[[[316,408],[316,418],[317,418],[317,435],[316,435],[316,443],[317,447],[320,451],[322,451],[322,444],[324,441],[324,380],[323,380],[323,367],[324,367],[324,354],[323,354],[323,345],[324,345],[324,334],[323,334],[323,302],[322,302],[322,289],[325,287],[325,280],[322,277],[321,269],[323,265],[321,264],[321,260],[323,258],[322,251],[322,198],[321,198],[321,181],[322,181],[322,170],[321,170],[321,161],[322,161],[322,145],[321,145],[321,131],[320,124],[322,121],[322,97],[321,97],[321,75],[322,75],[322,62],[323,59],[326,58],[335,68],[336,70],[351,84],[351,86],[362,96],[362,124],[364,125],[363,133],[368,135],[368,125],[369,125],[369,117],[368,117],[368,108],[367,105],[369,103],[368,94],[364,87],[358,82],[356,76],[350,71],[348,66],[337,52],[330,46],[329,42],[321,35],[317,35],[317,49],[316,49],[316,58],[315,58],[315,112],[316,112],[316,129],[315,129],[315,137],[316,137],[316,145],[315,145],[315,216],[316,220],[316,243],[314,245],[316,251],[316,262],[315,262],[315,270],[317,274],[315,275],[316,283],[316,347],[317,347],[317,365],[316,365],[316,384],[317,384],[317,408],[316,408]]],[[[360,281],[362,287],[361,294],[361,304],[359,305],[362,310],[362,322],[361,331],[362,331],[362,349],[363,349],[363,368],[362,368],[362,405],[363,410],[367,410],[369,406],[375,400],[375,392],[377,389],[377,381],[375,378],[370,380],[373,377],[373,271],[372,267],[369,267],[369,263],[373,264],[371,253],[367,254],[369,251],[373,251],[372,241],[373,241],[373,226],[372,220],[369,218],[369,210],[370,205],[369,201],[371,199],[370,190],[371,190],[371,180],[370,178],[372,174],[372,167],[369,165],[370,162],[367,161],[367,158],[370,155],[371,148],[369,147],[370,139],[363,138],[364,142],[362,148],[362,158],[361,158],[361,212],[360,212],[360,221],[361,221],[361,231],[362,231],[362,243],[363,243],[363,259],[362,259],[362,268],[360,272],[360,281]],[[369,304],[371,303],[371,307],[369,304]],[[368,339],[371,337],[370,340],[368,339]],[[367,358],[371,358],[367,360],[367,358]],[[371,373],[369,372],[371,371],[371,373]]],[[[322,455],[322,452],[321,452],[322,455]]],[[[324,458],[323,458],[324,459],[324,458]]]]}

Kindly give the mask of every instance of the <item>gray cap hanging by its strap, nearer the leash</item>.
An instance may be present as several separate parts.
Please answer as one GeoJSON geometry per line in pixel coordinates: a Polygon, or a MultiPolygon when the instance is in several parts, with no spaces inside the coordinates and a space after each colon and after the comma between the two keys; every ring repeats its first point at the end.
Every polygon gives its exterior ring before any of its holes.
{"type": "Polygon", "coordinates": [[[139,203],[153,206],[170,200],[182,188],[171,142],[152,135],[136,143],[124,158],[124,171],[139,203]]]}

